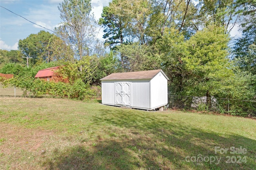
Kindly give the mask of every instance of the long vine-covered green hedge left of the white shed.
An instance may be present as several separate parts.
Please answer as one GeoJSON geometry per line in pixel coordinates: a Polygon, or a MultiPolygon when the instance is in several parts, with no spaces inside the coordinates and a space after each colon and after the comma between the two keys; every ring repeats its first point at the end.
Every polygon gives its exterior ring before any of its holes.
{"type": "Polygon", "coordinates": [[[23,91],[23,96],[70,98],[77,100],[89,100],[96,97],[96,90],[89,84],[85,84],[82,79],[77,79],[74,83],[48,82],[35,78],[16,77],[11,79],[0,79],[0,83],[7,87],[16,86],[23,91]]]}

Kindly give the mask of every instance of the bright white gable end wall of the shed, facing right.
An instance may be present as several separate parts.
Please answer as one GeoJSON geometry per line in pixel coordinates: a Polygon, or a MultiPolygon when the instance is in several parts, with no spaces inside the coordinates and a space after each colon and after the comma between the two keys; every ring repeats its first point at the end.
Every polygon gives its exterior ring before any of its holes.
{"type": "Polygon", "coordinates": [[[167,79],[159,72],[150,80],[151,109],[168,103],[167,79]]]}

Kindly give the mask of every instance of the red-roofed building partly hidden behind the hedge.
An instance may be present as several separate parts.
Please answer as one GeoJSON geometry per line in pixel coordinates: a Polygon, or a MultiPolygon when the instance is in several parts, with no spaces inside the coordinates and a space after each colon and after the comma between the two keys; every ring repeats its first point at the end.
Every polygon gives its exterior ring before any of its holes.
{"type": "Polygon", "coordinates": [[[58,68],[59,66],[39,70],[35,78],[40,78],[46,81],[54,81],[54,82],[68,82],[67,79],[62,78],[62,76],[60,76],[58,72],[56,72],[58,68]]]}

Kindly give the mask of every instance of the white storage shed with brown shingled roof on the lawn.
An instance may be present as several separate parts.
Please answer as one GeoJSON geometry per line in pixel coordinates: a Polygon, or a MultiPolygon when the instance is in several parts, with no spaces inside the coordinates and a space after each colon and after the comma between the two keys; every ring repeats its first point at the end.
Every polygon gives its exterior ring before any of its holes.
{"type": "Polygon", "coordinates": [[[168,103],[162,70],[112,73],[102,79],[102,104],[152,110],[168,103]]]}

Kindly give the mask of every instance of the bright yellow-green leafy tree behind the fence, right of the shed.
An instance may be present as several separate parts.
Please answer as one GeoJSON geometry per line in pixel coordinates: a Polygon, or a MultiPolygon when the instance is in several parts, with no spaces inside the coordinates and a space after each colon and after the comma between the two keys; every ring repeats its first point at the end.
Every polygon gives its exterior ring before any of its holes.
{"type": "Polygon", "coordinates": [[[222,80],[233,75],[228,58],[230,39],[224,30],[211,25],[198,31],[186,42],[189,54],[182,59],[189,73],[185,94],[206,95],[208,104],[210,96],[221,94],[217,89],[223,86],[222,80]]]}

